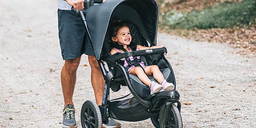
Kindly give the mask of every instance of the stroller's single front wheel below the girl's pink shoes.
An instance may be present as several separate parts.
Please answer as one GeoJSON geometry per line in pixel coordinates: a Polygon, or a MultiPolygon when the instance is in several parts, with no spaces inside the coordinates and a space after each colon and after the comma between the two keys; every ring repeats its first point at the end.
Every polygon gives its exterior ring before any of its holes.
{"type": "Polygon", "coordinates": [[[179,109],[173,103],[168,106],[166,108],[166,105],[163,105],[160,109],[160,128],[182,128],[183,125],[179,109]],[[166,116],[166,120],[163,120],[164,116],[166,116]]]}

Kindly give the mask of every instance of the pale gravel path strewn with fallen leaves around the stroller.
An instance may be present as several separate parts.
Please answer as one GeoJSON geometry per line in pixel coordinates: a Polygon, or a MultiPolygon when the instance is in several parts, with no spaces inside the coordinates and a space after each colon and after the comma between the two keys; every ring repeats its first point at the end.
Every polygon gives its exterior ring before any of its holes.
{"type": "MultiPolygon", "coordinates": [[[[0,128],[61,128],[64,61],[58,42],[57,3],[0,0],[0,128]]],[[[184,128],[256,126],[256,58],[237,55],[237,49],[225,44],[165,33],[158,34],[158,44],[168,47],[166,57],[175,72],[184,128]]],[[[81,128],[81,105],[95,100],[86,55],[77,74],[73,99],[81,128]]],[[[127,94],[123,88],[111,96],[127,94]]],[[[120,122],[123,128],[154,128],[150,119],[120,122]]]]}

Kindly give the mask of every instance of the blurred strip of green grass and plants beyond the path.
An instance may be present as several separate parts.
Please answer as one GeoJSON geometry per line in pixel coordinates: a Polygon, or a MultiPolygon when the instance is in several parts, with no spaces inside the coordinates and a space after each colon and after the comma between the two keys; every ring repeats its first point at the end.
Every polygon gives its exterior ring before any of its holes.
{"type": "Polygon", "coordinates": [[[209,29],[227,28],[235,25],[251,25],[255,23],[256,0],[244,0],[243,3],[215,4],[209,9],[200,12],[163,12],[160,14],[163,21],[160,25],[171,29],[209,29]]]}

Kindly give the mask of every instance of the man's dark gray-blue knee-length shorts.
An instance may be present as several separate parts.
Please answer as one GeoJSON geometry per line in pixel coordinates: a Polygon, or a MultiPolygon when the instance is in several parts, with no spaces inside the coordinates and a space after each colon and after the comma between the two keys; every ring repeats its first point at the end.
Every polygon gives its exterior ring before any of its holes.
{"type": "Polygon", "coordinates": [[[58,9],[58,32],[64,60],[78,58],[82,54],[94,55],[89,40],[85,38],[84,25],[74,12],[58,9]]]}

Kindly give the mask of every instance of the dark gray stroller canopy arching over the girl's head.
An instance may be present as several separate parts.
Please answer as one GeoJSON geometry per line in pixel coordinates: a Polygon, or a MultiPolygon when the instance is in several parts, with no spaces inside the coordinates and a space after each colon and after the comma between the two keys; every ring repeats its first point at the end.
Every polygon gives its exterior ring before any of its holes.
{"type": "Polygon", "coordinates": [[[108,0],[87,9],[87,27],[96,59],[100,58],[109,22],[113,17],[134,23],[150,44],[156,44],[158,10],[155,0],[108,0]]]}

